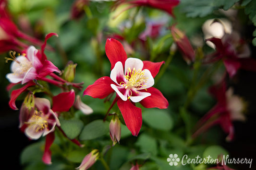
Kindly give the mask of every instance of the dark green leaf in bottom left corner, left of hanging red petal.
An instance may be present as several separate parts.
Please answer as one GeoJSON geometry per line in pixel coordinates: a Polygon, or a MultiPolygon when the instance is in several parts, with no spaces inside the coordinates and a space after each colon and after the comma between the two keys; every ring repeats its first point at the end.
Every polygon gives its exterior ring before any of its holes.
{"type": "Polygon", "coordinates": [[[21,164],[41,160],[43,156],[44,142],[37,142],[24,148],[21,153],[21,164]]]}

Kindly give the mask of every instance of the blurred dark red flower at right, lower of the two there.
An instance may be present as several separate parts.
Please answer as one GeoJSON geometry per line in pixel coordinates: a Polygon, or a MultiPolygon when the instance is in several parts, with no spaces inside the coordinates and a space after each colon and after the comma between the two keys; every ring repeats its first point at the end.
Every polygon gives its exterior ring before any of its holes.
{"type": "Polygon", "coordinates": [[[244,103],[236,95],[233,95],[232,89],[226,87],[224,81],[221,84],[213,86],[209,89],[210,93],[217,99],[216,105],[205,114],[205,116],[197,123],[198,130],[193,137],[205,132],[213,125],[220,125],[222,130],[228,134],[226,139],[231,141],[234,137],[234,126],[232,121],[244,121],[243,114],[244,103]]]}

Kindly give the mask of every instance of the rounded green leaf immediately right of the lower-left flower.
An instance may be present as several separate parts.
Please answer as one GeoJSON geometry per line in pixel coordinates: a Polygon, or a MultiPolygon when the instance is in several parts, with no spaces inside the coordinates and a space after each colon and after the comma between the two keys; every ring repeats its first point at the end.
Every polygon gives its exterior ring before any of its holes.
{"type": "Polygon", "coordinates": [[[79,119],[60,119],[60,123],[62,130],[70,139],[73,139],[76,136],[78,136],[84,126],[84,123],[79,119]]]}

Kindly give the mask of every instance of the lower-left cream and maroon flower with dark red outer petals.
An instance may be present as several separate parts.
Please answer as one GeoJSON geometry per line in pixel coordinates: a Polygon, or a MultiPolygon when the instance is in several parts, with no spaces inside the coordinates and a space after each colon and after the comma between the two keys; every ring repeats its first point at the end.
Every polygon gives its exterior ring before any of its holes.
{"type": "MultiPolygon", "coordinates": [[[[27,110],[23,105],[20,112],[20,128],[30,139],[38,139],[46,136],[45,151],[43,162],[51,164],[50,146],[54,142],[55,126],[60,128],[58,112],[67,112],[73,106],[75,99],[74,90],[62,92],[52,99],[52,108],[50,102],[45,98],[35,98],[35,108],[27,110]]],[[[73,141],[76,142],[76,141],[73,141]]],[[[78,144],[79,145],[79,144],[78,144]]]]}

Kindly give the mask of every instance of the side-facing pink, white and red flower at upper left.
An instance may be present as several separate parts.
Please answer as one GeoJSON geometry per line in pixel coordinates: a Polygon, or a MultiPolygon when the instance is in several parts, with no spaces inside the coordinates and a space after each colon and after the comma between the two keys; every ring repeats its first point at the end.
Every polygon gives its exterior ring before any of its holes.
{"type": "Polygon", "coordinates": [[[59,68],[47,60],[47,57],[44,54],[47,40],[52,35],[57,34],[50,33],[46,35],[45,42],[41,46],[41,51],[37,50],[34,46],[30,46],[24,51],[25,56],[13,56],[13,58],[10,58],[13,60],[11,64],[11,70],[13,73],[6,75],[6,78],[11,82],[10,86],[20,82],[22,84],[27,83],[24,87],[12,91],[11,100],[9,102],[9,105],[12,109],[17,110],[15,105],[17,97],[28,87],[35,85],[35,83],[31,80],[42,79],[54,71],[61,72],[59,68]]]}

